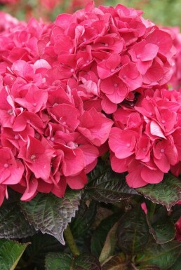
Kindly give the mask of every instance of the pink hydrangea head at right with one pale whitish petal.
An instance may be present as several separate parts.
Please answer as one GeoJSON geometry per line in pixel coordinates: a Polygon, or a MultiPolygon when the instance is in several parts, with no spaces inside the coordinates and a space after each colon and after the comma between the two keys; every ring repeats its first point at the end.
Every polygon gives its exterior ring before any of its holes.
{"type": "Polygon", "coordinates": [[[176,90],[145,90],[133,107],[113,114],[109,135],[112,169],[128,172],[130,187],[157,184],[169,170],[180,173],[181,95],[176,90]]]}

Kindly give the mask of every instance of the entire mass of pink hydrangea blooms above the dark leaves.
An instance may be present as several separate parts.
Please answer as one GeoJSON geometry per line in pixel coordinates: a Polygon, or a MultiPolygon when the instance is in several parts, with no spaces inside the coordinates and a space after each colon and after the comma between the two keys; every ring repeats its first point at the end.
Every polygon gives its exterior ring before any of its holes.
{"type": "Polygon", "coordinates": [[[1,30],[0,203],[7,187],[22,201],[81,189],[109,148],[130,187],[180,161],[180,95],[161,90],[173,41],[141,15],[90,2],[55,23],[12,18],[1,30]]]}

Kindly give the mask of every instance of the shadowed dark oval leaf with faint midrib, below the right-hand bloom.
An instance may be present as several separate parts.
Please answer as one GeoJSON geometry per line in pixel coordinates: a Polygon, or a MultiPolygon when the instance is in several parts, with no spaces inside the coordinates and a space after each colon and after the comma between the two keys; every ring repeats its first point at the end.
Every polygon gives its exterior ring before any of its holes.
{"type": "Polygon", "coordinates": [[[119,246],[128,255],[138,253],[147,245],[149,227],[142,208],[133,208],[126,212],[119,221],[119,246]]]}

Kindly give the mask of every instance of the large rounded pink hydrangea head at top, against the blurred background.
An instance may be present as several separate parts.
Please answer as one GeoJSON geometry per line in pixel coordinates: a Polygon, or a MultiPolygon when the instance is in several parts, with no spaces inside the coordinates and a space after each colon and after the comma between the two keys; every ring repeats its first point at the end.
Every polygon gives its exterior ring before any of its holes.
{"type": "Polygon", "coordinates": [[[84,10],[61,14],[41,40],[41,58],[57,79],[77,83],[79,97],[106,114],[139,88],[164,86],[175,53],[168,32],[142,18],[142,11],[90,2],[84,10]]]}

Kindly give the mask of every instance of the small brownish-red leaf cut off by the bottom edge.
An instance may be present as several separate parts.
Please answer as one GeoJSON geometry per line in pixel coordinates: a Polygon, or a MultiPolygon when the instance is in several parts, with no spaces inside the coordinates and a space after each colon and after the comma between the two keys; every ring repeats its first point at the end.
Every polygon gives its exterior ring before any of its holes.
{"type": "Polygon", "coordinates": [[[124,258],[114,256],[102,265],[102,270],[132,270],[124,258]],[[128,268],[129,267],[129,268],[128,268]]]}

